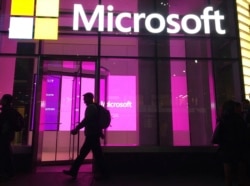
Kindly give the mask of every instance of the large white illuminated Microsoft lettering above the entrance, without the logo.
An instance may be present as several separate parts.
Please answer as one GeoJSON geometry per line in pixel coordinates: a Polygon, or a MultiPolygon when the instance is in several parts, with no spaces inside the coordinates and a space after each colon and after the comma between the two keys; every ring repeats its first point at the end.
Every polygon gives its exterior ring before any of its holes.
{"type": "Polygon", "coordinates": [[[210,24],[214,22],[215,31],[218,34],[226,34],[226,30],[222,28],[222,20],[225,19],[220,14],[219,10],[214,11],[213,7],[208,6],[204,8],[203,14],[197,16],[195,14],[187,14],[183,17],[179,14],[170,14],[166,18],[158,13],[130,13],[122,12],[119,13],[115,19],[113,14],[114,7],[112,5],[107,6],[107,23],[104,23],[105,7],[104,5],[97,5],[92,16],[88,20],[87,14],[81,4],[74,5],[74,17],[73,17],[73,30],[79,30],[79,22],[82,21],[86,31],[91,31],[94,23],[98,22],[98,31],[102,32],[106,28],[106,31],[113,32],[114,28],[123,33],[140,32],[140,22],[144,22],[145,28],[148,32],[157,34],[166,32],[169,34],[177,34],[183,31],[187,34],[197,34],[201,31],[202,27],[205,34],[210,34],[210,24]],[[130,19],[133,21],[132,26],[124,26],[122,21],[124,19],[130,19]],[[153,21],[157,20],[159,26],[155,27],[152,25],[153,21]],[[190,27],[189,21],[194,21],[195,26],[190,27]]]}

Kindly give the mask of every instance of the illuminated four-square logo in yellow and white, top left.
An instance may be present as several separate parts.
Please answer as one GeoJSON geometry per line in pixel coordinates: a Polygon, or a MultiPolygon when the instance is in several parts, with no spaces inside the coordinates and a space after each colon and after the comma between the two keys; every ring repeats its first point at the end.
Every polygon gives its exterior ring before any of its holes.
{"type": "Polygon", "coordinates": [[[60,0],[12,0],[9,38],[57,40],[60,0]]]}

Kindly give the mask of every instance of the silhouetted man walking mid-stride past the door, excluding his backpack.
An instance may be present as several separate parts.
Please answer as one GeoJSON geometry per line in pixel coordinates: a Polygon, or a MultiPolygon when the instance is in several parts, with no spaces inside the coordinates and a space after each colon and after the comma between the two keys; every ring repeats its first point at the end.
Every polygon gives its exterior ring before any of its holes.
{"type": "Polygon", "coordinates": [[[85,157],[92,150],[95,165],[99,174],[95,174],[95,179],[105,179],[107,172],[104,167],[103,153],[100,143],[100,138],[103,137],[102,127],[99,125],[99,109],[94,103],[94,95],[90,92],[83,95],[84,103],[86,104],[84,119],[71,130],[72,135],[76,135],[81,128],[85,128],[85,141],[80,149],[80,153],[74,160],[69,170],[63,170],[63,173],[76,179],[79,168],[85,157]]]}

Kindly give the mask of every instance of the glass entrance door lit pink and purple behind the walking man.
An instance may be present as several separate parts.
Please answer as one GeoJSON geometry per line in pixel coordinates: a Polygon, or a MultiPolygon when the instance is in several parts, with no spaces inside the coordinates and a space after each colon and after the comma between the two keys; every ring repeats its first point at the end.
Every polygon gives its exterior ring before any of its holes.
{"type": "MultiPolygon", "coordinates": [[[[71,135],[83,118],[82,95],[95,92],[96,62],[91,60],[44,60],[40,128],[43,132],[42,162],[75,159],[84,141],[84,133],[71,135]]],[[[108,72],[101,70],[100,92],[106,100],[108,72]]],[[[84,130],[84,129],[83,129],[84,130]]],[[[90,153],[87,159],[92,159],[90,153]]]]}

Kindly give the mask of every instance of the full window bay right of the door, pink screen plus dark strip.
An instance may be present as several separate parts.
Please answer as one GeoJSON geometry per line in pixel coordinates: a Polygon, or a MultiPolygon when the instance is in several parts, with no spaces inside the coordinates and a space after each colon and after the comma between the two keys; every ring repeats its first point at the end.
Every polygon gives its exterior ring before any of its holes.
{"type": "Polygon", "coordinates": [[[107,58],[101,65],[110,72],[107,106],[113,123],[107,131],[107,145],[156,144],[155,63],[107,58]],[[121,104],[123,107],[119,107],[121,104]]]}

